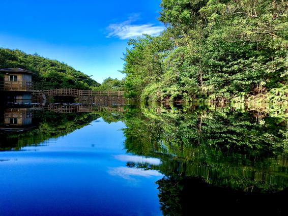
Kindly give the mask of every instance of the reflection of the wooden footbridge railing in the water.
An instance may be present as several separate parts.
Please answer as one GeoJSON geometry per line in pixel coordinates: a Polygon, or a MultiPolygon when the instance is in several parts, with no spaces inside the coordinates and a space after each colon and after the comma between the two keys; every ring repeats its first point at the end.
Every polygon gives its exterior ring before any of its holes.
{"type": "Polygon", "coordinates": [[[75,112],[95,112],[95,111],[114,111],[124,112],[123,106],[92,106],[92,105],[48,105],[45,109],[57,113],[75,113],[75,112]]]}

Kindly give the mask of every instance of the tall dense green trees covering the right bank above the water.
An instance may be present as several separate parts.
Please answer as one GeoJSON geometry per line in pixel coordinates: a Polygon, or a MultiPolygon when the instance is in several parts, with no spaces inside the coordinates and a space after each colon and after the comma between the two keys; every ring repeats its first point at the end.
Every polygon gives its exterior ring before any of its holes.
{"type": "Polygon", "coordinates": [[[162,0],[158,37],[129,41],[127,97],[288,100],[288,2],[162,0]]]}

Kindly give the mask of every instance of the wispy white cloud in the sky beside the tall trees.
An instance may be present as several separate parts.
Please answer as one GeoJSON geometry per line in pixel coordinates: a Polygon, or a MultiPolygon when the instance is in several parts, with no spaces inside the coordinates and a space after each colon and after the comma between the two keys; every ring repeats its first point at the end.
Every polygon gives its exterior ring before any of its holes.
{"type": "Polygon", "coordinates": [[[148,34],[151,36],[157,36],[165,29],[164,26],[155,26],[154,24],[132,24],[136,21],[137,16],[129,17],[127,21],[121,23],[110,24],[107,29],[110,32],[108,38],[117,37],[122,40],[135,38],[148,34]]]}

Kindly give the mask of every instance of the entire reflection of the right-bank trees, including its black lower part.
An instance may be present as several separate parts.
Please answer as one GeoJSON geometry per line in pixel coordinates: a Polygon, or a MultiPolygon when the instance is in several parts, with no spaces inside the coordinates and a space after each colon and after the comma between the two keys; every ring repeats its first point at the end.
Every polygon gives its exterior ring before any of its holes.
{"type": "Polygon", "coordinates": [[[127,151],[162,161],[148,168],[166,176],[157,181],[164,215],[204,204],[209,213],[223,204],[222,212],[249,210],[251,203],[270,202],[272,212],[279,210],[277,202],[285,206],[286,193],[270,193],[288,187],[288,163],[281,156],[287,152],[286,109],[152,105],[130,109],[125,123],[127,151]]]}

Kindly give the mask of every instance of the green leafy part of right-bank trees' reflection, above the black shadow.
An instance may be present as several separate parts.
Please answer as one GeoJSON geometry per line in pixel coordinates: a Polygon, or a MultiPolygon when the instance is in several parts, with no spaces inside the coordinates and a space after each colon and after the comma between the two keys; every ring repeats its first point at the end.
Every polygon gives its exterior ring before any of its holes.
{"type": "Polygon", "coordinates": [[[125,147],[136,155],[161,158],[165,175],[178,173],[217,186],[245,191],[287,187],[286,120],[231,107],[150,107],[125,114],[125,147]]]}

